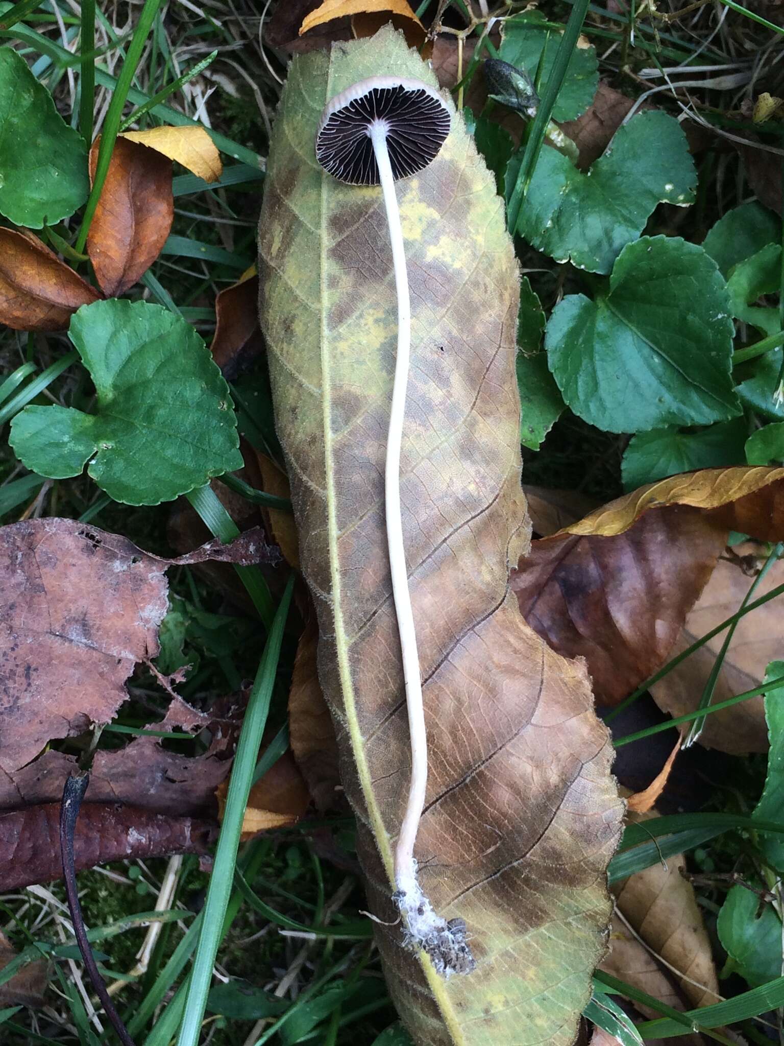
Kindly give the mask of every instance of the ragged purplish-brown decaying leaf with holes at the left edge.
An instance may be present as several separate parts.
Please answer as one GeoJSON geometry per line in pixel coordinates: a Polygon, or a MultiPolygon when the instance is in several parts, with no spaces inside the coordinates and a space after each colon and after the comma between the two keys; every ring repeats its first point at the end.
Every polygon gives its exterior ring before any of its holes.
{"type": "MultiPolygon", "coordinates": [[[[74,760],[56,751],[36,756],[53,738],[110,722],[128,697],[124,682],[136,662],[156,657],[158,627],[167,608],[166,567],[210,556],[248,564],[257,562],[264,547],[258,532],[249,531],[232,545],[211,543],[179,561],[161,560],[126,538],[73,520],[2,527],[0,809],[60,797],[74,760]]],[[[178,698],[155,728],[202,729],[212,719],[178,698]]],[[[200,770],[209,768],[213,790],[226,772],[227,766],[220,765],[225,758],[217,744],[190,761],[200,770]]],[[[177,781],[183,761],[188,760],[152,737],[98,752],[90,799],[141,804],[147,793],[154,795],[158,777],[177,781]],[[143,753],[147,758],[140,758],[143,753]]],[[[188,775],[181,779],[181,788],[192,787],[188,775]]],[[[169,812],[170,798],[163,808],[169,812]]],[[[155,809],[154,798],[151,805],[155,809]]]]}

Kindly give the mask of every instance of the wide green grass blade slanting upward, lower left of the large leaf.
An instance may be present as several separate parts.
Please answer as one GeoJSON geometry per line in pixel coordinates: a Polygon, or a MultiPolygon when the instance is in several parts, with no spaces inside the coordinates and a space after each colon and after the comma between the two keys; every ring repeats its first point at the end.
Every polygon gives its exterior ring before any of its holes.
{"type": "Polygon", "coordinates": [[[198,1046],[199,1043],[207,993],[212,980],[212,968],[221,942],[221,928],[231,895],[237,848],[243,831],[243,817],[256,768],[261,734],[270,710],[270,701],[280,657],[280,644],[283,639],[283,628],[289,616],[293,588],[294,574],[289,577],[283,597],[272,622],[258,673],[248,699],[248,707],[232,765],[226,810],[221,826],[221,836],[217,840],[215,863],[207,889],[204,919],[190,974],[185,1011],[177,1040],[178,1046],[198,1046]]]}

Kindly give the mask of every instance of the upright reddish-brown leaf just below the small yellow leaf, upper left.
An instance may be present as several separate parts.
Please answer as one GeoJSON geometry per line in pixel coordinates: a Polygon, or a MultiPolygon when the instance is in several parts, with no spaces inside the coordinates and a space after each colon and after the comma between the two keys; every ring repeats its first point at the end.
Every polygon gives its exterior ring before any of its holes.
{"type": "MultiPolygon", "coordinates": [[[[100,138],[90,150],[95,177],[100,138]]],[[[161,253],[175,217],[171,163],[154,149],[119,137],[90,224],[87,253],[107,297],[124,294],[161,253]]]]}

